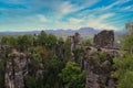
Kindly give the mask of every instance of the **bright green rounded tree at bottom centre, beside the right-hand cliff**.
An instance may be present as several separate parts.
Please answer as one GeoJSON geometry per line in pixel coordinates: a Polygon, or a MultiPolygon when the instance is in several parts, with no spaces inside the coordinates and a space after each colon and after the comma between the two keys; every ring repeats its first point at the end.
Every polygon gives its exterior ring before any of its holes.
{"type": "Polygon", "coordinates": [[[85,88],[85,72],[81,72],[74,62],[68,62],[59,76],[65,84],[65,88],[85,88]]]}

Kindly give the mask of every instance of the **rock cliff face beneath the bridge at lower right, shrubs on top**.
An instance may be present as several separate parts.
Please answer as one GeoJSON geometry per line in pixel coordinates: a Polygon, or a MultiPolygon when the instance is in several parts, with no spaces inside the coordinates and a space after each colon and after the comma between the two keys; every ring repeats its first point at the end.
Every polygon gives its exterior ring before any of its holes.
{"type": "Polygon", "coordinates": [[[100,53],[91,53],[88,56],[85,88],[115,88],[115,79],[111,77],[113,67],[110,59],[113,57],[106,54],[104,59],[99,55],[100,53]]]}

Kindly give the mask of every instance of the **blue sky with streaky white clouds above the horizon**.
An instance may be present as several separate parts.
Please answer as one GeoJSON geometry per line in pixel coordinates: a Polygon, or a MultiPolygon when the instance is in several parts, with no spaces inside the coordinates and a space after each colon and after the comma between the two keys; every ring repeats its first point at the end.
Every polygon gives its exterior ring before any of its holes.
{"type": "Polygon", "coordinates": [[[0,0],[0,32],[122,30],[133,21],[133,0],[0,0]]]}

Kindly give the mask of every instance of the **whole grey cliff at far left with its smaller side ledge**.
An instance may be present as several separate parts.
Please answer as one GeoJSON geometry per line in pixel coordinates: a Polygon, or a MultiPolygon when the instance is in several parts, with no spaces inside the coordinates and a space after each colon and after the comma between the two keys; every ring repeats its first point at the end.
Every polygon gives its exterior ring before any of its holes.
{"type": "Polygon", "coordinates": [[[43,78],[43,67],[41,63],[39,63],[38,69],[35,70],[32,66],[30,66],[30,53],[20,53],[12,47],[0,46],[0,59],[6,62],[4,73],[2,74],[4,88],[25,88],[24,79],[30,73],[37,79],[39,77],[43,78]],[[34,73],[32,70],[34,70],[34,73]]]}

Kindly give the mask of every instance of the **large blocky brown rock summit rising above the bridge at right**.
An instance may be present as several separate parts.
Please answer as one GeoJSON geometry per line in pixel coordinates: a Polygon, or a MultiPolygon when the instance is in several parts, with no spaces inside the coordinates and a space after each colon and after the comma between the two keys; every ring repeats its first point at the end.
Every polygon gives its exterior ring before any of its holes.
{"type": "Polygon", "coordinates": [[[114,44],[114,32],[102,31],[94,36],[93,44],[96,47],[113,47],[114,44]]]}

